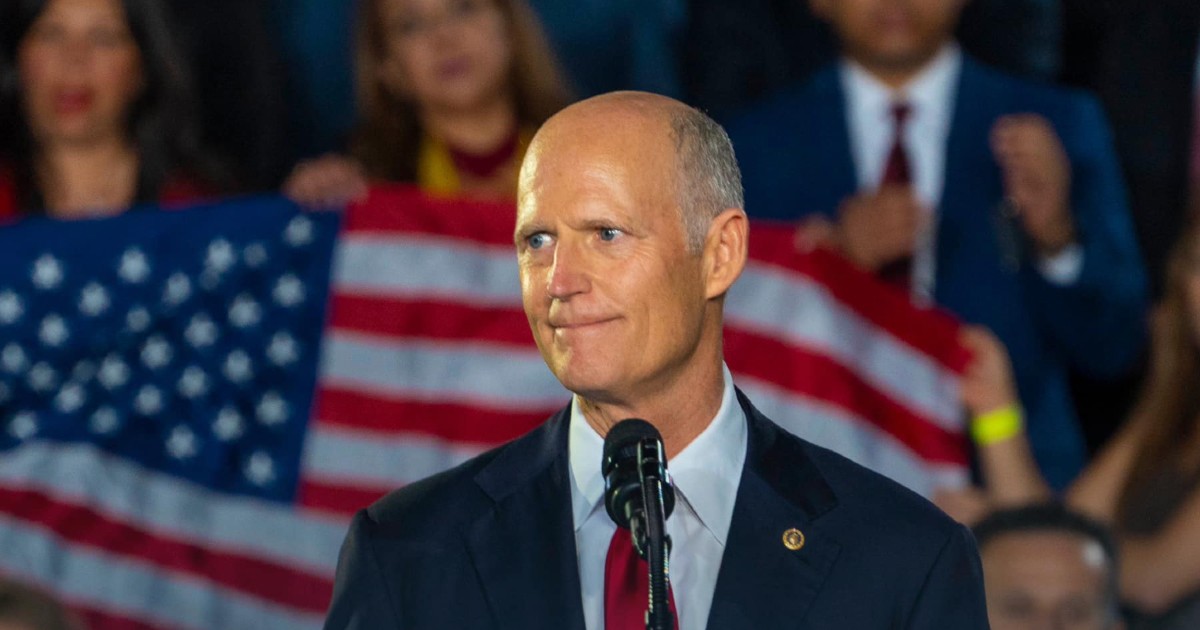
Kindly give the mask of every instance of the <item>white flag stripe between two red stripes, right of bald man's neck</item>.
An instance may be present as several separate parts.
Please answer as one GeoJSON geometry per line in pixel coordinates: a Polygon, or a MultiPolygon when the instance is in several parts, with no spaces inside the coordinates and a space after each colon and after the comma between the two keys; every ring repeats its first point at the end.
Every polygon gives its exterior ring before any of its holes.
{"type": "Polygon", "coordinates": [[[942,428],[962,431],[958,379],[808,276],[754,264],[730,292],[726,325],[826,354],[942,428]]]}

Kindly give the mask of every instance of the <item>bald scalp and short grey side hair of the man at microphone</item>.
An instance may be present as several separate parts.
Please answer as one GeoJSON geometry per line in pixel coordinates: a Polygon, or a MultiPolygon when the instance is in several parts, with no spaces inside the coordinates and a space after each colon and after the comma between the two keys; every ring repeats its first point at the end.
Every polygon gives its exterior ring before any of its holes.
{"type": "MultiPolygon", "coordinates": [[[[612,92],[563,109],[534,137],[521,167],[523,199],[540,168],[571,168],[588,149],[611,150],[673,199],[698,253],[712,220],[742,208],[742,173],[728,134],[703,112],[648,92],[612,92]]],[[[611,154],[612,155],[612,154],[611,154]]]]}

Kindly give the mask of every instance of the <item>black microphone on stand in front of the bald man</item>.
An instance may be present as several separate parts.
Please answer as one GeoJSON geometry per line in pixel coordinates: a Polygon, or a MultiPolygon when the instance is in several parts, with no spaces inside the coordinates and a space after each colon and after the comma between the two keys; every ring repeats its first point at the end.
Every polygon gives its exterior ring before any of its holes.
{"type": "Polygon", "coordinates": [[[671,612],[671,536],[667,516],[674,509],[674,488],[667,474],[662,436],[637,418],[622,420],[604,439],[604,506],[617,527],[629,529],[637,554],[648,564],[647,630],[674,628],[671,612]]]}

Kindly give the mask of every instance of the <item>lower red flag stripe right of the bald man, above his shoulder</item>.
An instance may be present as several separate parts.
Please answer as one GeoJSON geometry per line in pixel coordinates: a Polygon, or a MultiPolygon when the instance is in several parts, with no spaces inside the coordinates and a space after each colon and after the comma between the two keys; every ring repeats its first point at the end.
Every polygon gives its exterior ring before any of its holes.
{"type": "Polygon", "coordinates": [[[888,432],[923,460],[965,464],[966,443],[917,415],[833,359],[740,330],[725,331],[726,360],[734,373],[835,404],[888,432]],[[791,356],[778,360],[781,352],[791,356]]]}

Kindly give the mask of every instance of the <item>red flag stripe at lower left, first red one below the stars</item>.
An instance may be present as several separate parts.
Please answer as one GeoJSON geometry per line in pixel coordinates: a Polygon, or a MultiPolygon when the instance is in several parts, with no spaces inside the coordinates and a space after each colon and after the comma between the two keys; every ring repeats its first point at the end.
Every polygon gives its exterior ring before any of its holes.
{"type": "Polygon", "coordinates": [[[324,612],[334,593],[332,581],[328,577],[172,540],[40,492],[0,487],[0,510],[47,527],[78,545],[140,558],[162,569],[198,576],[301,611],[324,612]]]}

